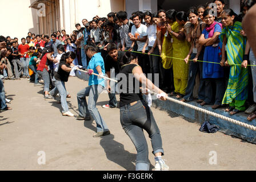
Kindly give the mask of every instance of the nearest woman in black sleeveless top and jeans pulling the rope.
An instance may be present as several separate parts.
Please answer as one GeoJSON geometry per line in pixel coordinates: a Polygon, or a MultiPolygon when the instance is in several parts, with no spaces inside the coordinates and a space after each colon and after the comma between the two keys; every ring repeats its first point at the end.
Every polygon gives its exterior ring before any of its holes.
{"type": "MultiPolygon", "coordinates": [[[[142,86],[155,93],[162,94],[161,100],[166,100],[166,93],[157,88],[143,75],[142,68],[138,65],[137,57],[126,52],[123,56],[123,66],[118,85],[120,88],[120,120],[123,130],[130,137],[137,150],[137,171],[149,170],[149,151],[143,130],[146,130],[151,138],[153,154],[155,155],[155,170],[169,170],[162,159],[163,148],[160,131],[155,122],[153,113],[146,101],[143,100],[139,86],[134,81],[139,81],[142,86]],[[137,86],[136,86],[137,85],[137,86]]],[[[118,77],[118,76],[117,76],[118,77]]]]}

